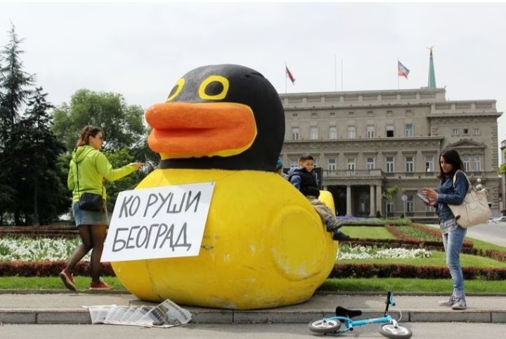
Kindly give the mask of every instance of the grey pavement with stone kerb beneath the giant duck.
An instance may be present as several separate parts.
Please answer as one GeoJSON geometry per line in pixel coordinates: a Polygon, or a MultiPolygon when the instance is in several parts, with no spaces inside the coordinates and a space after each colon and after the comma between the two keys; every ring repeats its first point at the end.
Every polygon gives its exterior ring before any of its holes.
{"type": "MultiPolygon", "coordinates": [[[[480,323],[506,323],[505,295],[468,295],[468,308],[454,311],[439,307],[438,301],[446,296],[438,294],[395,296],[396,306],[390,314],[402,322],[466,321],[480,323]]],[[[309,323],[314,319],[332,315],[340,305],[362,310],[360,318],[381,317],[385,294],[316,294],[299,305],[270,310],[218,310],[203,307],[185,307],[192,313],[193,323],[244,324],[244,323],[309,323]]],[[[122,293],[71,293],[65,291],[2,291],[0,293],[0,323],[4,324],[91,324],[89,311],[84,305],[157,305],[138,300],[134,295],[122,293]]],[[[183,306],[184,307],[184,306],[183,306]]]]}

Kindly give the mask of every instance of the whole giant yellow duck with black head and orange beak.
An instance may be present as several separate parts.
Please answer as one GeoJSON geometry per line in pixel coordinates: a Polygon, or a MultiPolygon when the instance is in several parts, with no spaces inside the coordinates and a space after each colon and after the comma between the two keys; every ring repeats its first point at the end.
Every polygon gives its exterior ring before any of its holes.
{"type": "Polygon", "coordinates": [[[146,120],[148,145],[162,161],[137,188],[214,182],[214,192],[199,255],[112,262],[119,281],[143,300],[233,310],[311,298],[332,270],[337,242],[274,173],[285,115],[271,83],[239,65],[198,67],[146,120]]]}

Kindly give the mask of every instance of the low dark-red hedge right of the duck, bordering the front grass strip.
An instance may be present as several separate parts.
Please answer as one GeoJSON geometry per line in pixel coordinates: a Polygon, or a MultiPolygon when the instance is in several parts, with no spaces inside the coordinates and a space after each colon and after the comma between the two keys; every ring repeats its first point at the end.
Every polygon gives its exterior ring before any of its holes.
{"type": "MultiPolygon", "coordinates": [[[[505,268],[462,267],[465,279],[504,280],[505,268]]],[[[380,264],[336,264],[329,278],[422,278],[447,279],[446,267],[380,264]]]]}

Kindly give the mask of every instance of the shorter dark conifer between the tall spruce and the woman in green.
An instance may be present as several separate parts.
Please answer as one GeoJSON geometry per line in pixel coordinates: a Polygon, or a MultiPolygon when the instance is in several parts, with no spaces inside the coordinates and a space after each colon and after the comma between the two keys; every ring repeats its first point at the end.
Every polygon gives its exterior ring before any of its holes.
{"type": "Polygon", "coordinates": [[[51,132],[52,107],[42,88],[36,88],[24,117],[13,128],[7,155],[17,178],[11,182],[15,195],[9,208],[16,225],[44,225],[70,207],[60,164],[66,149],[51,132]]]}

